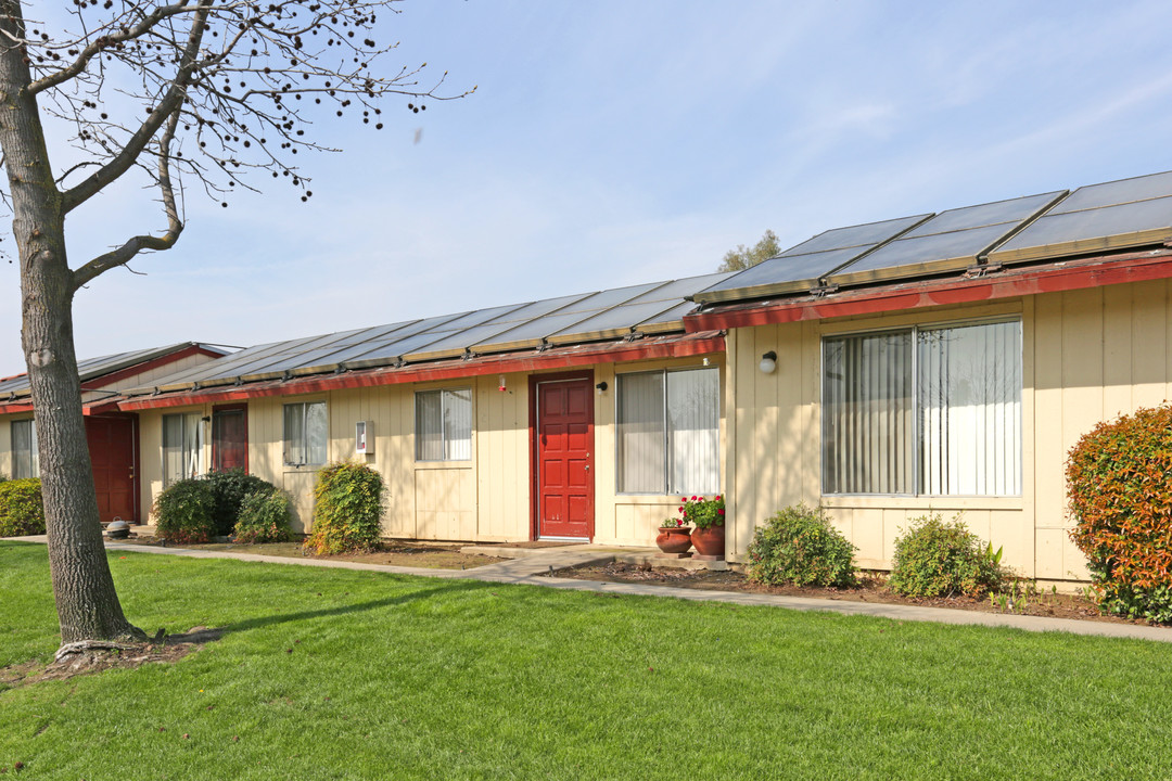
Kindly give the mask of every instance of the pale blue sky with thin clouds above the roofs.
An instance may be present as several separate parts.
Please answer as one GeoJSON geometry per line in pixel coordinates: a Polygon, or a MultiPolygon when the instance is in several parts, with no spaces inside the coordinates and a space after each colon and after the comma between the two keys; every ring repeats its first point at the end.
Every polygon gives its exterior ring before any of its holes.
{"type": "MultiPolygon", "coordinates": [[[[79,293],[80,357],[248,345],[715,270],[827,228],[1172,169],[1172,4],[407,0],[403,64],[471,97],[227,210],[79,293]]],[[[299,156],[305,158],[306,156],[299,156]]],[[[264,179],[259,186],[268,186],[264,179]]],[[[74,265],[158,229],[123,186],[70,215],[74,265]]],[[[5,242],[11,246],[11,241],[5,242]]],[[[0,265],[0,376],[23,370],[0,265]]]]}

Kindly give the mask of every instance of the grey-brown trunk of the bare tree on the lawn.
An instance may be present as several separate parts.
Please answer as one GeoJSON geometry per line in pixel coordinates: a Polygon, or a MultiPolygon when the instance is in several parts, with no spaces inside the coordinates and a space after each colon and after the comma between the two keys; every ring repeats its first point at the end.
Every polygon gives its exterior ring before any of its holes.
{"type": "Polygon", "coordinates": [[[28,95],[18,0],[0,0],[0,149],[20,256],[21,347],[28,364],[62,643],[145,637],[114,589],[82,418],[73,338],[73,272],[61,193],[53,180],[36,101],[28,95]]]}

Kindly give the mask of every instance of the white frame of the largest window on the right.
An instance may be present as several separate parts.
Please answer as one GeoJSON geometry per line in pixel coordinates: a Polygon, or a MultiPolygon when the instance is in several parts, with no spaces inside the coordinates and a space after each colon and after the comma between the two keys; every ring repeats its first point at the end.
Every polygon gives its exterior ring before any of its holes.
{"type": "Polygon", "coordinates": [[[820,425],[820,459],[822,470],[819,484],[822,486],[822,495],[827,498],[839,498],[839,496],[908,496],[908,498],[979,498],[979,499],[1002,499],[1002,498],[1021,498],[1023,489],[1023,453],[1024,453],[1024,423],[1022,418],[1022,410],[1024,409],[1024,327],[1022,324],[1021,316],[999,316],[999,317],[981,317],[970,320],[956,320],[956,321],[942,321],[942,322],[928,322],[928,323],[915,323],[912,326],[892,327],[892,328],[874,328],[857,331],[843,331],[837,334],[826,334],[822,338],[822,366],[819,372],[820,382],[820,404],[822,404],[822,425],[820,425]],[[1016,409],[1016,455],[1014,458],[1016,465],[1016,491],[1013,492],[1001,492],[1001,493],[928,493],[924,489],[924,475],[922,475],[922,447],[924,447],[924,431],[922,431],[922,412],[924,407],[921,404],[920,395],[920,366],[919,366],[919,335],[924,331],[936,331],[947,330],[952,328],[968,328],[979,326],[995,326],[1003,323],[1016,323],[1017,324],[1017,352],[1014,356],[1017,361],[1016,375],[1018,379],[1017,385],[1017,409],[1016,409]],[[830,419],[830,404],[827,403],[827,383],[826,383],[826,371],[827,371],[827,359],[826,349],[827,344],[833,341],[852,338],[852,337],[866,337],[866,336],[880,336],[884,334],[909,334],[911,335],[911,417],[912,417],[912,433],[906,444],[908,452],[906,454],[907,463],[911,465],[911,482],[912,491],[909,493],[886,493],[886,492],[836,492],[830,493],[826,491],[827,484],[827,468],[829,468],[829,447],[827,447],[827,431],[831,425],[830,419]]]}

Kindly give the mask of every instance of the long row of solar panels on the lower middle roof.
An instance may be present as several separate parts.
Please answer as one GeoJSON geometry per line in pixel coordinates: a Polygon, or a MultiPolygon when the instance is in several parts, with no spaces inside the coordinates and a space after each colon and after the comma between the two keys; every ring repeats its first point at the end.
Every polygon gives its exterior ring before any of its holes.
{"type": "Polygon", "coordinates": [[[709,274],[492,307],[425,320],[261,344],[165,377],[132,393],[280,379],[566,342],[683,330],[686,296],[727,279],[709,274]]]}

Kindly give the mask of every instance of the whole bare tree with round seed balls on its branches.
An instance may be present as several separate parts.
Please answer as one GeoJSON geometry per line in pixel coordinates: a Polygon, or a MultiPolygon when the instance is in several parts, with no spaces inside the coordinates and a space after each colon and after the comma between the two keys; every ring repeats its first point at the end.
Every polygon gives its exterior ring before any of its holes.
{"type": "MultiPolygon", "coordinates": [[[[73,0],[49,29],[0,0],[0,150],[20,260],[21,343],[32,383],[49,566],[63,644],[144,637],[123,615],[101,539],[73,338],[77,289],[183,232],[188,181],[217,200],[248,173],[313,193],[293,156],[326,112],[382,128],[380,98],[447,100],[422,68],[381,73],[377,14],[397,0],[73,0]],[[46,126],[71,137],[54,167],[46,126]],[[161,205],[144,232],[76,266],[66,217],[113,183],[146,177],[161,205]]],[[[473,88],[475,89],[475,88],[473,88]]],[[[466,95],[466,93],[464,93],[466,95]]],[[[145,227],[145,226],[144,226],[145,227]]]]}

